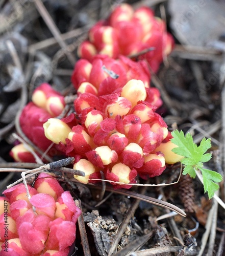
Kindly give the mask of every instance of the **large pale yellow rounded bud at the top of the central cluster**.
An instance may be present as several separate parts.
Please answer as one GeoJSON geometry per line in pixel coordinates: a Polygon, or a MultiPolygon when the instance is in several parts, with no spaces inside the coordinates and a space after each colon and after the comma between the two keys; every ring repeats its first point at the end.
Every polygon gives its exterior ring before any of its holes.
{"type": "Polygon", "coordinates": [[[147,96],[144,83],[141,80],[132,79],[122,88],[121,97],[131,101],[132,108],[139,100],[145,100],[147,96]]]}

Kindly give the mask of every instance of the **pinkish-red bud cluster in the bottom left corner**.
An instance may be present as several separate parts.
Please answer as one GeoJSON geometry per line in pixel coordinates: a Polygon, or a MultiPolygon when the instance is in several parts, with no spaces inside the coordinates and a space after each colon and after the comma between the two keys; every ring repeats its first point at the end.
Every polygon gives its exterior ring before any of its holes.
{"type": "Polygon", "coordinates": [[[68,255],[81,210],[50,175],[40,174],[28,188],[30,200],[23,184],[0,197],[0,254],[68,255]]]}

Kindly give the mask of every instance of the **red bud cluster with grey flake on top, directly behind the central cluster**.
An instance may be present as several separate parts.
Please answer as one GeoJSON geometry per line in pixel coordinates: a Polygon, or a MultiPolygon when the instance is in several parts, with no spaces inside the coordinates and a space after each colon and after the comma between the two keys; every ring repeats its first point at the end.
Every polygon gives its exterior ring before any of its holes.
{"type": "Polygon", "coordinates": [[[145,61],[135,62],[122,55],[117,60],[107,55],[96,55],[91,62],[86,59],[78,60],[71,77],[74,88],[82,100],[76,100],[77,113],[80,114],[81,109],[89,107],[89,101],[98,109],[98,105],[101,104],[99,96],[104,98],[104,95],[120,94],[124,84],[132,79],[144,83],[149,103],[157,108],[162,105],[159,90],[150,88],[151,74],[145,61]]]}

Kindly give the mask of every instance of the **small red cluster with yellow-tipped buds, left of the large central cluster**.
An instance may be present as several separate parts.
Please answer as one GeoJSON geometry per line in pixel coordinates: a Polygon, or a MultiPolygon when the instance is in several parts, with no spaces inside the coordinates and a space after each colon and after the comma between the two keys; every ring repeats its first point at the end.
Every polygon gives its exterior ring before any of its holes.
{"type": "MultiPolygon", "coordinates": [[[[34,90],[32,101],[22,110],[19,123],[22,132],[42,151],[52,144],[44,135],[43,123],[61,114],[65,106],[64,97],[48,83],[34,90]]],[[[35,162],[35,158],[23,144],[14,146],[10,155],[17,162],[35,162]]]]}

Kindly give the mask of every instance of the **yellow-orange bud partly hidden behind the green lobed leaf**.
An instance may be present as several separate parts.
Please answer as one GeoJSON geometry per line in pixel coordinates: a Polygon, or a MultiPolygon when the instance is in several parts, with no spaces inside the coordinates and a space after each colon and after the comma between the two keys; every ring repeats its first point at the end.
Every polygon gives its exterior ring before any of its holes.
{"type": "Polygon", "coordinates": [[[166,143],[161,143],[156,148],[156,151],[160,151],[163,153],[165,162],[167,164],[174,164],[174,163],[181,161],[181,159],[184,158],[183,156],[180,156],[180,155],[172,152],[172,149],[174,147],[178,147],[178,146],[173,144],[171,141],[167,141],[166,143]]]}

